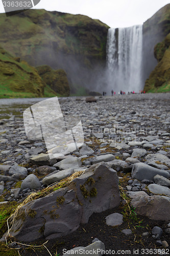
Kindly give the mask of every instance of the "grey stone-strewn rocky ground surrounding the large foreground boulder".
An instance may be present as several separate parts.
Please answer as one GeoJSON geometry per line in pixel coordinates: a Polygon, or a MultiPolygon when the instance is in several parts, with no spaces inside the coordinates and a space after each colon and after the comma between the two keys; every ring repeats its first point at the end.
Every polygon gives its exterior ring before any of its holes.
{"type": "MultiPolygon", "coordinates": [[[[76,231],[51,239],[46,244],[51,255],[56,255],[56,250],[63,255],[64,248],[68,250],[79,246],[90,246],[86,250],[105,248],[105,255],[168,255],[169,96],[120,95],[96,97],[96,102],[86,102],[85,98],[61,98],[59,101],[64,116],[81,118],[85,141],[82,147],[57,160],[48,158],[44,141],[28,140],[23,119],[20,118],[25,105],[17,106],[15,112],[8,112],[9,119],[4,118],[5,107],[1,106],[1,220],[8,217],[3,211],[8,205],[19,204],[31,193],[53,182],[82,172],[93,164],[105,162],[119,178],[119,206],[93,213],[88,223],[80,224],[76,231]],[[96,242],[92,244],[93,239],[96,242]]],[[[7,226],[3,224],[1,229],[2,236],[7,226]]],[[[39,239],[34,245],[44,242],[39,239]]],[[[50,255],[44,247],[34,247],[34,251],[15,242],[10,246],[15,250],[21,246],[21,255],[50,255]]],[[[11,255],[15,255],[15,250],[11,255]]]]}

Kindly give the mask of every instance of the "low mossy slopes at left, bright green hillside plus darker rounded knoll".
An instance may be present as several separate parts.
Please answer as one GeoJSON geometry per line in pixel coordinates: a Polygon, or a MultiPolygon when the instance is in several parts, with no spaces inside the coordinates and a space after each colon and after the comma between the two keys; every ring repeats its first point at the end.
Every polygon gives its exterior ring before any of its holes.
{"type": "Polygon", "coordinates": [[[69,96],[64,70],[35,69],[0,47],[0,98],[69,96]],[[42,70],[44,70],[42,74],[42,70]]]}

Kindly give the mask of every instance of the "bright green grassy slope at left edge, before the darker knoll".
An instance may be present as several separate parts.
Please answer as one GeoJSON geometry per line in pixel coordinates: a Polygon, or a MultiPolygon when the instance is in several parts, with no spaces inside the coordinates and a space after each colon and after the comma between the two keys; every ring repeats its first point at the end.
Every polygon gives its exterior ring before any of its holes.
{"type": "Polygon", "coordinates": [[[26,61],[0,48],[0,98],[42,97],[45,83],[26,61]]]}

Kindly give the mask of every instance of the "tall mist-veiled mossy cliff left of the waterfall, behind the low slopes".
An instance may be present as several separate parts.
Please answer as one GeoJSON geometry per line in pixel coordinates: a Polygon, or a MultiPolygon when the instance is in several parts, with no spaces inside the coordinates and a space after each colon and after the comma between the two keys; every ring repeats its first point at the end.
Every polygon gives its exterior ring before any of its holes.
{"type": "Polygon", "coordinates": [[[0,15],[0,44],[30,65],[64,69],[70,84],[90,88],[105,65],[108,28],[84,15],[30,9],[0,15]]]}

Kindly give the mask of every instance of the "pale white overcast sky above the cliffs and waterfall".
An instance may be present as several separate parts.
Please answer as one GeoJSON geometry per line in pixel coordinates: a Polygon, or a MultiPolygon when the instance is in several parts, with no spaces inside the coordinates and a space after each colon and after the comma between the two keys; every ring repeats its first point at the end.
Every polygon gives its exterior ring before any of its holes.
{"type": "MultiPolygon", "coordinates": [[[[143,24],[166,4],[169,0],[41,0],[34,9],[84,14],[120,28],[143,24]]],[[[1,0],[0,12],[5,12],[1,0]]]]}

